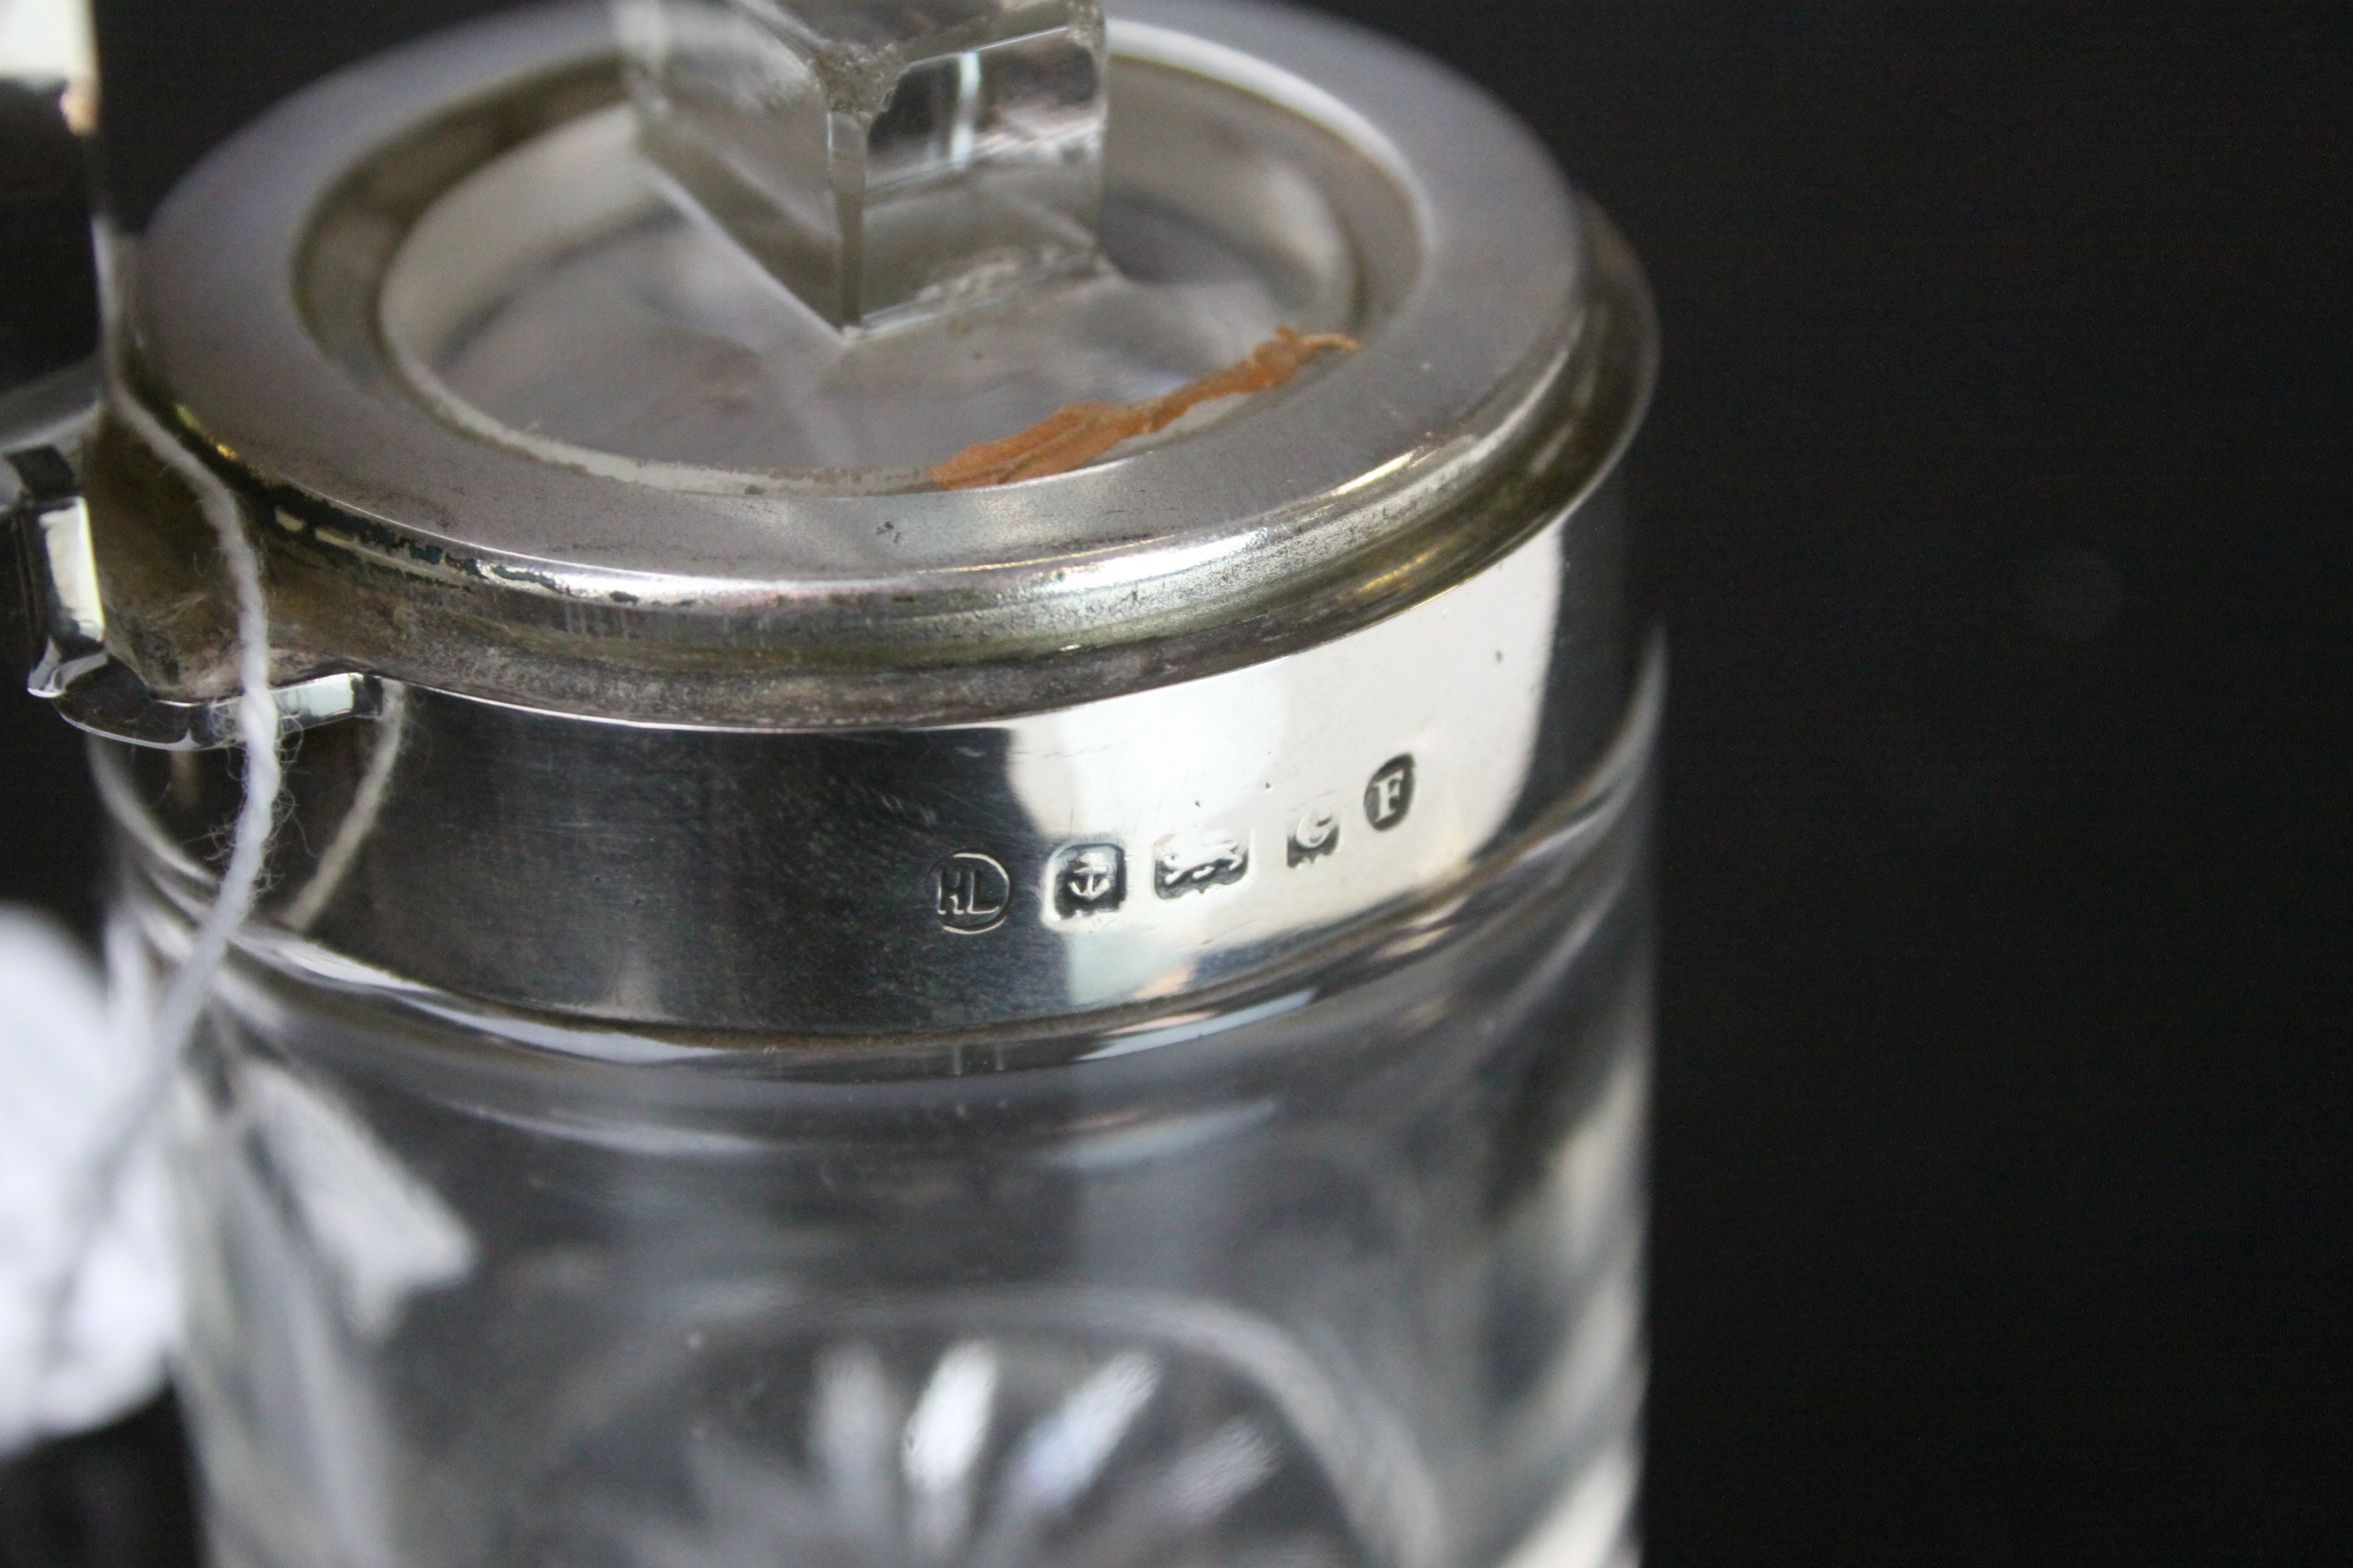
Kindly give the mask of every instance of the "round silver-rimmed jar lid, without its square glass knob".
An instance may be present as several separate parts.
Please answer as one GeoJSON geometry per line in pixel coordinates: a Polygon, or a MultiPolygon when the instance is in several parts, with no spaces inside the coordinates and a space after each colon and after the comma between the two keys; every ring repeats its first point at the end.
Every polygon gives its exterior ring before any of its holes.
{"type": "Polygon", "coordinates": [[[1501,491],[1607,465],[1635,284],[1595,282],[1489,99],[1202,0],[1115,7],[1104,80],[1101,261],[849,331],[673,200],[602,7],[414,45],[249,127],[146,235],[134,331],[151,395],[280,524],[280,665],[640,722],[1035,710],[1360,625],[1506,550],[1529,508],[1501,491]],[[1358,348],[1075,473],[932,477],[1282,331],[1358,348]]]}

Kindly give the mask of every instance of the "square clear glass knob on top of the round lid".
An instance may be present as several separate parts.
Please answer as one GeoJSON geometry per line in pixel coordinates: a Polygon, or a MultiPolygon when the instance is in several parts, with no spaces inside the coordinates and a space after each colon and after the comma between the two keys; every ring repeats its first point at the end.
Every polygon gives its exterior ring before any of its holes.
{"type": "Polygon", "coordinates": [[[614,0],[640,146],[835,327],[1085,270],[1101,0],[614,0]]]}

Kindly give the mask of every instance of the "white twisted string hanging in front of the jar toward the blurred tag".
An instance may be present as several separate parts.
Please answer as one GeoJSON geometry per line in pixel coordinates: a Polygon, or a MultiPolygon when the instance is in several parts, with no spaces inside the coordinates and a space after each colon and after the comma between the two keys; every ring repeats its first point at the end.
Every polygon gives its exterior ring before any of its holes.
{"type": "Polygon", "coordinates": [[[195,924],[195,940],[188,945],[188,957],[174,971],[162,1001],[155,1006],[148,1032],[148,1060],[139,1081],[104,1124],[89,1161],[78,1171],[75,1192],[68,1197],[66,1246],[59,1255],[56,1276],[40,1295],[45,1302],[40,1314],[40,1363],[45,1368],[56,1368],[66,1356],[68,1319],[82,1272],[89,1265],[89,1253],[106,1220],[113,1215],[125,1173],[155,1126],[155,1117],[188,1053],[188,1041],[195,1039],[198,1018],[212,994],[212,980],[228,957],[228,945],[252,917],[254,900],[261,896],[261,872],[268,858],[271,832],[278,825],[278,795],[285,788],[278,693],[271,691],[271,618],[268,599],[261,590],[261,555],[245,531],[245,515],[238,508],[238,498],[195,454],[165,430],[162,421],[148,414],[134,393],[118,386],[115,395],[108,397],[108,409],[129,425],[165,468],[188,484],[219,543],[221,564],[228,571],[228,588],[235,599],[238,743],[245,750],[245,802],[238,806],[221,886],[214,893],[212,907],[195,924]]]}

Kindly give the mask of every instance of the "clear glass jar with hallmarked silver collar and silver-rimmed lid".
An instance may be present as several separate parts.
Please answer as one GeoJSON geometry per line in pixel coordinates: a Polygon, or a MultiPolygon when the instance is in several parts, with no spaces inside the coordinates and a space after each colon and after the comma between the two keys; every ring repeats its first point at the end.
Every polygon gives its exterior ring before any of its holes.
{"type": "Polygon", "coordinates": [[[151,978],[266,844],[224,1566],[1626,1561],[1631,252],[1301,12],[626,14],[247,127],[16,461],[151,978]]]}

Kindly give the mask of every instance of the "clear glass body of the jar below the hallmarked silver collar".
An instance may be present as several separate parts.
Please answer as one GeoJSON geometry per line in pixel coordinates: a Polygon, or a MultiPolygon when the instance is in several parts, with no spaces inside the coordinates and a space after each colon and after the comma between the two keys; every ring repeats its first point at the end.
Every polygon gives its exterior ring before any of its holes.
{"type": "Polygon", "coordinates": [[[216,1561],[1631,1561],[1645,816],[1092,1034],[711,1048],[240,952],[179,1107],[216,1561]]]}

